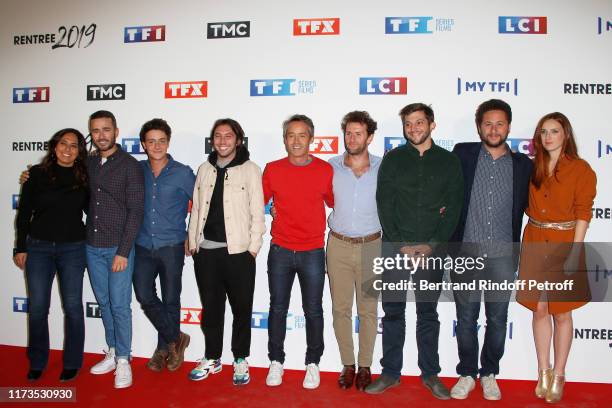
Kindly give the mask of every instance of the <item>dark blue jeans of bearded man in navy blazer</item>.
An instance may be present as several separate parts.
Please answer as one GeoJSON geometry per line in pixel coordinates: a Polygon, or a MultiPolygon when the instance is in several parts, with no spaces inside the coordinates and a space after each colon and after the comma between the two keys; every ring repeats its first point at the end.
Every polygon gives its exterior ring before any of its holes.
{"type": "MultiPolygon", "coordinates": [[[[512,257],[489,258],[486,268],[478,275],[451,273],[453,282],[468,282],[487,279],[493,282],[514,282],[515,268],[512,257]]],[[[478,315],[480,314],[481,291],[454,291],[457,309],[457,348],[459,364],[457,374],[476,378],[499,374],[499,361],[504,355],[508,303],[511,291],[485,291],[485,338],[480,353],[481,368],[478,369],[478,315]]]]}

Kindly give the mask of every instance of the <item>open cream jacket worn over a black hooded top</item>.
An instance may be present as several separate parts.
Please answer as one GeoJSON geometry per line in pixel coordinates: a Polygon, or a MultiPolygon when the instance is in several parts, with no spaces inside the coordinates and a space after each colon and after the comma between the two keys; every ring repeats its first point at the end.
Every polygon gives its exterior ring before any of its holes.
{"type": "MultiPolygon", "coordinates": [[[[208,216],[210,199],[217,181],[217,170],[208,161],[198,169],[193,191],[193,204],[189,218],[189,249],[200,250],[204,239],[204,225],[208,216]]],[[[261,169],[247,160],[227,169],[223,186],[223,212],[227,251],[238,254],[244,251],[257,253],[266,232],[265,206],[261,184],[261,169]]]]}

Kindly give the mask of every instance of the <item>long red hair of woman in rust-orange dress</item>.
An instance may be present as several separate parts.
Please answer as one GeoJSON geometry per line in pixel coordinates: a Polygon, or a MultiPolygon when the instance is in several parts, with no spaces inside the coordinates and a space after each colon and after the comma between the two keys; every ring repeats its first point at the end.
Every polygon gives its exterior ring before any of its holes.
{"type": "MultiPolygon", "coordinates": [[[[535,156],[533,158],[533,173],[531,174],[531,182],[533,185],[539,189],[544,180],[550,174],[548,173],[548,164],[550,163],[550,154],[544,149],[542,145],[542,125],[547,120],[554,120],[559,122],[561,127],[563,128],[563,132],[565,133],[565,140],[563,141],[563,146],[561,146],[561,156],[565,156],[568,159],[578,159],[578,148],[576,147],[576,140],[574,139],[574,130],[572,129],[572,124],[570,123],[567,116],[562,114],[561,112],[552,112],[547,115],[542,116],[542,118],[538,121],[536,126],[536,130],[533,134],[533,149],[535,152],[535,156]]],[[[558,165],[558,162],[557,162],[558,165]]],[[[556,172],[556,166],[553,173],[556,172]]]]}

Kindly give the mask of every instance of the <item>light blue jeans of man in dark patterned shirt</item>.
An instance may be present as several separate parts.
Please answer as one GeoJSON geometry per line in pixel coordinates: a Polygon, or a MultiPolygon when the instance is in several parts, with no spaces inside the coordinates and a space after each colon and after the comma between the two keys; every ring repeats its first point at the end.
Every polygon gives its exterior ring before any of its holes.
{"type": "Polygon", "coordinates": [[[134,249],[128,265],[121,272],[112,272],[117,247],[96,248],[87,245],[87,270],[91,288],[96,295],[108,347],[115,348],[117,357],[128,358],[132,345],[132,274],[134,249]]]}

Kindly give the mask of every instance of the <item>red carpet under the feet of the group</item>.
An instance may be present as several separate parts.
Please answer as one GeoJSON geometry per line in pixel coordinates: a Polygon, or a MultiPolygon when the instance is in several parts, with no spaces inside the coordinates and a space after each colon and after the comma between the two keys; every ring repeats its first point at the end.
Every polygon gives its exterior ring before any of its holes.
{"type": "MultiPolygon", "coordinates": [[[[416,377],[402,377],[402,384],[378,396],[340,390],[336,385],[338,373],[322,373],[321,386],[317,390],[302,388],[303,371],[285,370],[283,384],[269,388],[265,385],[267,369],[251,368],[251,383],[244,387],[232,385],[232,367],[224,366],[223,371],[200,382],[187,379],[193,368],[188,362],[174,373],[164,371],[153,373],[145,367],[146,360],[136,358],[132,362],[134,384],[132,387],[115,390],[113,375],[93,376],[89,367],[100,359],[100,355],[86,354],[84,369],[77,379],[61,384],[61,353],[52,351],[49,367],[36,383],[26,380],[28,362],[25,348],[0,346],[1,387],[74,387],[76,403],[16,403],[3,406],[19,407],[550,407],[533,396],[533,381],[500,380],[503,399],[486,401],[477,385],[470,397],[464,401],[438,401],[425,390],[416,377]]],[[[455,379],[443,379],[452,386],[455,379]]],[[[612,385],[568,383],[565,396],[556,407],[611,407],[612,385]]]]}

